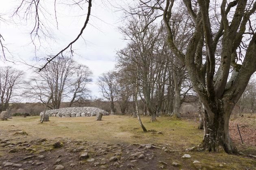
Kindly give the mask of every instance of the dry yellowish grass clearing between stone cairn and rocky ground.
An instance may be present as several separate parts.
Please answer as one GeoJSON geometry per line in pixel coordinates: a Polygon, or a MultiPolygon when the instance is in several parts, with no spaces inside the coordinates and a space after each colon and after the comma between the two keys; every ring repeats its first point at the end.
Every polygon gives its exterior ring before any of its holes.
{"type": "Polygon", "coordinates": [[[23,130],[33,138],[73,138],[111,143],[167,143],[180,147],[192,147],[202,139],[202,130],[197,130],[191,121],[170,117],[159,117],[155,123],[142,117],[145,127],[163,134],[143,133],[137,119],[129,116],[104,116],[102,121],[95,117],[50,117],[50,121],[39,123],[39,117],[13,117],[1,121],[1,130],[23,130]],[[177,143],[176,141],[179,140],[177,143]]]}

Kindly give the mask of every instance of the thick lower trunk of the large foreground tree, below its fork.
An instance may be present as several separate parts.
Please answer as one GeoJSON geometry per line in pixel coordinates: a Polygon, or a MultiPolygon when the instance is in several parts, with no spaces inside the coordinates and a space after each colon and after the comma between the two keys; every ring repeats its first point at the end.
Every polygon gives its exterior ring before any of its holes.
{"type": "Polygon", "coordinates": [[[238,153],[229,134],[229,119],[233,107],[219,100],[217,104],[204,109],[204,149],[219,151],[221,147],[226,153],[238,153]]]}

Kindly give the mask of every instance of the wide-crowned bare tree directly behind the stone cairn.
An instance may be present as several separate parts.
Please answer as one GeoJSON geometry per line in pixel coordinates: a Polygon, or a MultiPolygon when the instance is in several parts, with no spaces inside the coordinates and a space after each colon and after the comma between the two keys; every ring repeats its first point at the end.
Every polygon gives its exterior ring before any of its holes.
{"type": "Polygon", "coordinates": [[[57,62],[47,65],[41,72],[36,72],[27,83],[25,94],[44,104],[50,98],[51,103],[47,105],[50,109],[58,109],[64,99],[69,100],[69,106],[72,106],[79,99],[89,96],[86,85],[91,81],[91,74],[87,66],[77,64],[69,57],[59,57],[57,62]]]}

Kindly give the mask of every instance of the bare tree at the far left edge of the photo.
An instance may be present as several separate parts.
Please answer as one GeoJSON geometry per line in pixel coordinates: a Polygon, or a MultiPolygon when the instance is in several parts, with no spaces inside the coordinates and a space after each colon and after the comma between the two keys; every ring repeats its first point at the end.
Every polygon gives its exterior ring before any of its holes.
{"type": "Polygon", "coordinates": [[[10,66],[0,67],[0,112],[6,110],[11,98],[17,95],[23,83],[24,72],[10,66]]]}

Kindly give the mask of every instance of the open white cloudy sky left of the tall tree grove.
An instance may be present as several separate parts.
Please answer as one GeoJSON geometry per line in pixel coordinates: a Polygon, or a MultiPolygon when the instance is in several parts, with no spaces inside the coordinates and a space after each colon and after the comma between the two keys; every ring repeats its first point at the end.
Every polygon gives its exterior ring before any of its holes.
{"type": "MultiPolygon", "coordinates": [[[[54,1],[40,1],[41,13],[39,17],[46,28],[44,31],[50,32],[52,38],[43,38],[41,36],[40,44],[36,39],[35,46],[31,43],[30,32],[33,30],[35,21],[33,15],[26,15],[28,19],[23,19],[24,9],[21,9],[18,15],[11,17],[20,5],[21,0],[0,0],[0,34],[4,37],[4,45],[11,52],[6,52],[7,59],[12,61],[0,60],[0,66],[13,66],[14,68],[24,70],[29,77],[35,69],[33,65],[39,67],[35,57],[42,58],[47,55],[54,55],[67,46],[76,38],[82,28],[86,14],[87,5],[70,5],[72,1],[57,0],[56,18],[54,14],[54,1]],[[42,3],[41,3],[42,2],[42,3]],[[5,19],[3,21],[3,19],[5,19]],[[35,52],[36,51],[36,52],[35,52]],[[13,61],[15,61],[13,63],[13,61]]],[[[93,82],[88,85],[91,90],[91,96],[101,97],[100,90],[96,85],[98,76],[104,72],[115,69],[116,51],[125,47],[126,42],[122,39],[122,34],[118,27],[123,23],[122,13],[109,2],[96,0],[92,4],[89,25],[72,47],[75,52],[73,59],[79,64],[85,64],[93,72],[93,82]]],[[[40,61],[44,63],[45,61],[40,61]]]]}

